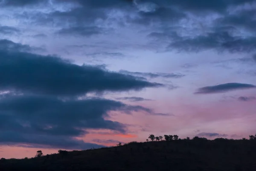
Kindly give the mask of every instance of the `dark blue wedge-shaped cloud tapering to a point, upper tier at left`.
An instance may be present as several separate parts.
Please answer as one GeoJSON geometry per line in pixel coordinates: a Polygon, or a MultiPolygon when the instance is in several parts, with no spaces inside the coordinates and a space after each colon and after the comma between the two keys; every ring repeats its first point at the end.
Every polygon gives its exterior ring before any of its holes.
{"type": "Polygon", "coordinates": [[[13,43],[9,47],[5,43],[10,41],[0,41],[0,90],[76,96],[162,86],[99,67],[79,66],[57,57],[1,50],[1,44],[10,50],[29,49],[29,46],[13,43]]]}

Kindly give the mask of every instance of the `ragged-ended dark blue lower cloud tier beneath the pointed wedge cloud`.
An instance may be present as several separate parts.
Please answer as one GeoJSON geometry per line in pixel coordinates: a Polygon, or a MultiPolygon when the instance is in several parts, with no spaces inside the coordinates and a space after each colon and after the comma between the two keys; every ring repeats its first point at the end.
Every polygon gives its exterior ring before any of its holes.
{"type": "Polygon", "coordinates": [[[107,99],[64,101],[49,96],[8,96],[0,99],[0,127],[15,127],[20,133],[73,136],[86,133],[81,128],[124,131],[122,124],[105,121],[102,116],[111,110],[131,112],[143,109],[107,99]]]}

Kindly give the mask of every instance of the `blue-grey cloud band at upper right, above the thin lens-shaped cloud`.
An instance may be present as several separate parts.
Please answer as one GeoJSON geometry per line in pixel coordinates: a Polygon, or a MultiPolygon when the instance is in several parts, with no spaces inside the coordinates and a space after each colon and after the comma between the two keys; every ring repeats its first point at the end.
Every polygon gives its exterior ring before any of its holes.
{"type": "MultiPolygon", "coordinates": [[[[159,33],[160,34],[160,33],[159,33]]],[[[154,34],[155,37],[163,36],[154,34]]],[[[169,34],[168,34],[169,35],[169,34]]],[[[152,35],[151,35],[152,36],[152,35]]],[[[208,32],[195,37],[171,36],[167,50],[178,52],[200,52],[215,49],[218,52],[253,52],[256,51],[256,37],[232,36],[229,32],[208,32]]]]}

